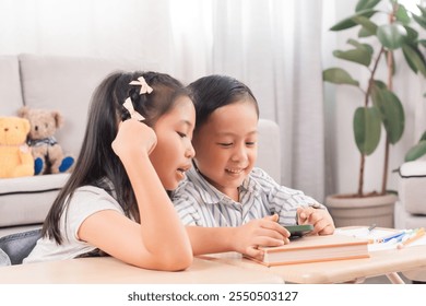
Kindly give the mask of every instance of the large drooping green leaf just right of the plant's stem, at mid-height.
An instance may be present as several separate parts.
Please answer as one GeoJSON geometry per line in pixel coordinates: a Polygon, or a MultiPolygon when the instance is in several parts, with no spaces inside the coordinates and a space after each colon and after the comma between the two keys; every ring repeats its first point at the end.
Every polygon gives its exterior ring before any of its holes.
{"type": "Polygon", "coordinates": [[[404,108],[399,97],[387,89],[371,87],[372,104],[380,111],[380,118],[389,142],[395,144],[402,137],[405,126],[404,108]]]}

